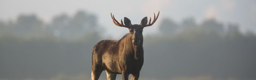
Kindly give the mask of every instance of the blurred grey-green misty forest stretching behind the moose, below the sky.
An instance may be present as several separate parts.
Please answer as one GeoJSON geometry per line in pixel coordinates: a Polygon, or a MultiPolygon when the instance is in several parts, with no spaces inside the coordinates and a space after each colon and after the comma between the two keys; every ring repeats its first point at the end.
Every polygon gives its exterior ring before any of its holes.
{"type": "MultiPolygon", "coordinates": [[[[159,23],[159,34],[144,35],[140,79],[256,79],[253,32],[242,34],[238,24],[215,19],[196,23],[190,17],[178,23],[165,18],[159,23]]],[[[0,20],[0,79],[89,80],[93,46],[111,39],[101,36],[104,28],[85,11],[60,14],[50,23],[36,14],[0,20]]],[[[106,79],[104,73],[100,79],[106,79]]]]}

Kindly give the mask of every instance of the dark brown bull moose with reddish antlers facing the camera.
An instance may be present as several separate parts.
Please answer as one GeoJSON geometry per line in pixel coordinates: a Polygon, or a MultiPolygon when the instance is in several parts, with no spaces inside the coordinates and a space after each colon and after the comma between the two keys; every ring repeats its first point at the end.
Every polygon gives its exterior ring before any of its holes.
{"type": "Polygon", "coordinates": [[[107,80],[115,80],[116,74],[122,74],[123,80],[128,80],[129,74],[132,74],[131,80],[138,80],[140,69],[144,61],[143,35],[144,27],[153,25],[159,15],[154,13],[154,20],[151,23],[151,17],[144,17],[140,25],[131,24],[131,20],[124,17],[124,24],[121,24],[110,13],[114,24],[120,27],[128,28],[127,33],[120,40],[102,40],[92,49],[92,77],[91,80],[98,80],[103,70],[107,73],[107,80]],[[148,24],[147,24],[148,23],[148,24]]]}

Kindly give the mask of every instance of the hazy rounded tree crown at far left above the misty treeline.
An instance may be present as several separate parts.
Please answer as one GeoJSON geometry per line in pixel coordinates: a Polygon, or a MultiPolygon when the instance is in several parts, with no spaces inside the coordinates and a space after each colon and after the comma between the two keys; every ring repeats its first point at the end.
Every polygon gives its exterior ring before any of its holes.
{"type": "Polygon", "coordinates": [[[35,14],[20,15],[10,26],[12,34],[23,38],[40,37],[44,35],[44,23],[35,14]]]}

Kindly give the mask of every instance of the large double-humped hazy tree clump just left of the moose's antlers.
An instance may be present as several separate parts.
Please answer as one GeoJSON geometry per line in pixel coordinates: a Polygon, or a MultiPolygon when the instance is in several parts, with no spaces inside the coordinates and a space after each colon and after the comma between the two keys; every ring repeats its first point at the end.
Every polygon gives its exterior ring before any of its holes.
{"type": "Polygon", "coordinates": [[[67,40],[91,40],[94,37],[100,37],[98,34],[104,32],[100,31],[102,30],[100,28],[97,17],[85,11],[76,12],[74,17],[66,14],[56,16],[48,26],[48,30],[55,36],[67,40]]]}

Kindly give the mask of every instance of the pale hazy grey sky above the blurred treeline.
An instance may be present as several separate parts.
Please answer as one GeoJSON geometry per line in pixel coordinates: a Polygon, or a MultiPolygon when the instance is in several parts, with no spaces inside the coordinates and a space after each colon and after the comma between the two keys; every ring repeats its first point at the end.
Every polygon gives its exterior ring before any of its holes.
{"type": "Polygon", "coordinates": [[[19,14],[38,15],[45,22],[62,13],[73,16],[78,10],[96,14],[109,35],[119,39],[129,30],[117,27],[110,12],[120,22],[127,17],[132,24],[140,24],[147,16],[160,11],[159,20],[144,28],[144,35],[157,32],[157,25],[164,17],[181,22],[194,17],[197,22],[216,18],[220,22],[238,23],[242,31],[256,32],[256,0],[0,0],[0,20],[15,20],[19,14]]]}

